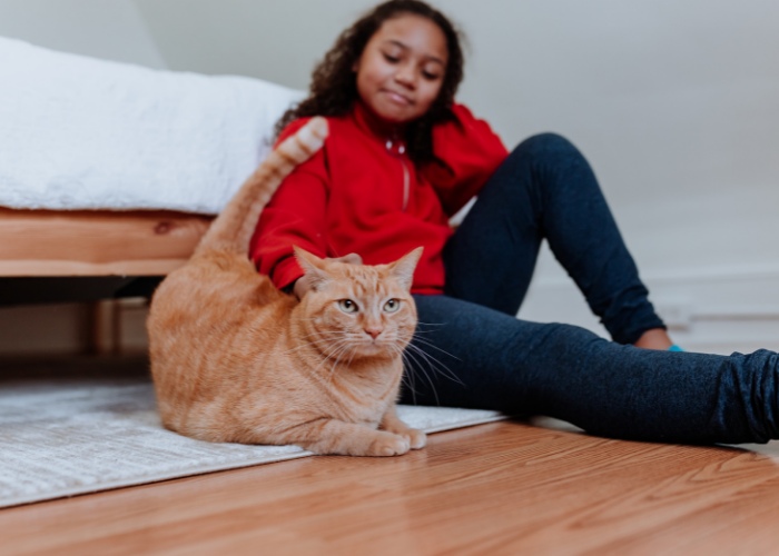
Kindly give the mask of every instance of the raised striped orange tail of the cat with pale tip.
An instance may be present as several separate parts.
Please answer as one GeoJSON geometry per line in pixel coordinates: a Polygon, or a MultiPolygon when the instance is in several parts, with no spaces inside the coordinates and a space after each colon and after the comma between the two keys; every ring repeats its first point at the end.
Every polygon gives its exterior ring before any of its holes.
{"type": "Polygon", "coordinates": [[[284,178],[319,150],[326,138],[327,120],[317,116],[282,141],[211,222],[195,255],[214,250],[247,254],[263,208],[284,178]]]}

